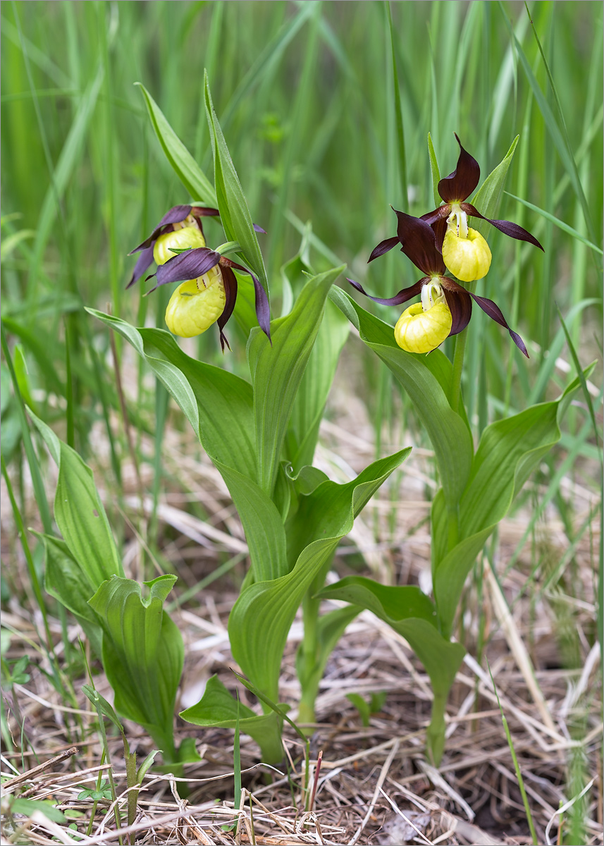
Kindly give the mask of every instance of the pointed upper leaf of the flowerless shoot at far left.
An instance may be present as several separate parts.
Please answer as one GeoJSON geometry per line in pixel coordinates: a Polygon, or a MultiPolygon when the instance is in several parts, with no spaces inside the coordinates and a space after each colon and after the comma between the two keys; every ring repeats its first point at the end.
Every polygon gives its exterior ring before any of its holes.
{"type": "Polygon", "coordinates": [[[30,417],[58,464],[54,518],[71,556],[93,588],[92,593],[111,576],[124,575],[92,470],[31,411],[30,417]]]}

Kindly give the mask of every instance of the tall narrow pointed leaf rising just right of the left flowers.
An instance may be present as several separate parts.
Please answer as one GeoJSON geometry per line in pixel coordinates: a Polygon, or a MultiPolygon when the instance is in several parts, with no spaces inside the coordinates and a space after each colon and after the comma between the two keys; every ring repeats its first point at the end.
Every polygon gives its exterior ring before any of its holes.
{"type": "Polygon", "coordinates": [[[256,238],[254,223],[237,171],[233,165],[227,142],[222,135],[214,104],[211,102],[210,83],[207,71],[204,74],[206,117],[210,128],[211,151],[214,156],[214,182],[216,183],[217,206],[220,221],[228,241],[239,241],[244,261],[247,261],[268,296],[268,279],[260,244],[256,238]]]}

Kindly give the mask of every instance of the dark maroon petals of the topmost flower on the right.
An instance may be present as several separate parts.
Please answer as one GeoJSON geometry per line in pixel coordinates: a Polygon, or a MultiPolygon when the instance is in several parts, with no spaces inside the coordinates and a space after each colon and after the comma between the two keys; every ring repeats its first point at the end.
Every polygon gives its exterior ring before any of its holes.
{"type": "MultiPolygon", "coordinates": [[[[484,217],[484,215],[481,215],[480,211],[478,211],[475,206],[472,206],[471,203],[465,202],[479,183],[480,165],[476,162],[474,157],[469,155],[468,151],[464,150],[464,147],[461,145],[461,141],[458,139],[457,133],[455,133],[455,138],[457,139],[459,145],[457,168],[455,168],[453,173],[449,173],[448,176],[441,179],[438,183],[438,193],[442,197],[444,204],[442,206],[438,206],[438,208],[434,209],[434,211],[428,211],[427,214],[420,217],[420,220],[426,221],[426,223],[435,227],[435,232],[437,234],[437,249],[442,252],[442,241],[447,229],[444,227],[440,228],[436,224],[441,221],[446,221],[452,211],[460,211],[464,212],[468,217],[479,217],[480,220],[486,220],[486,222],[491,223],[492,226],[499,229],[500,232],[504,235],[508,235],[510,238],[515,238],[519,241],[528,241],[529,244],[533,244],[535,247],[539,247],[540,250],[543,250],[543,247],[535,236],[531,235],[530,232],[527,232],[526,229],[519,226],[518,223],[513,223],[509,220],[491,220],[490,217],[484,217]]],[[[399,212],[397,212],[397,214],[398,213],[399,212]]],[[[369,261],[373,261],[380,255],[384,255],[384,253],[387,253],[388,250],[392,250],[393,247],[396,247],[399,243],[401,242],[398,237],[387,238],[386,240],[381,241],[371,253],[369,261]]]]}

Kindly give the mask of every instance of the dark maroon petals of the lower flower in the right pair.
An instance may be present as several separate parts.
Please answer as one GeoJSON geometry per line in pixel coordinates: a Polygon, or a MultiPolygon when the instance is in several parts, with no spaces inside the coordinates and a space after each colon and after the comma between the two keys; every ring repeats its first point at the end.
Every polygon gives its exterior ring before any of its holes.
{"type": "MultiPolygon", "coordinates": [[[[457,335],[458,332],[462,332],[467,327],[469,318],[472,316],[472,299],[474,299],[476,305],[479,305],[485,314],[491,317],[491,320],[496,321],[496,323],[508,330],[513,343],[516,344],[520,352],[528,359],[529,354],[524,346],[524,341],[520,338],[519,334],[510,329],[499,306],[492,302],[491,299],[479,297],[477,294],[471,294],[462,285],[455,282],[454,279],[445,276],[447,268],[442,260],[442,253],[438,250],[437,240],[441,237],[441,234],[442,238],[444,237],[447,226],[446,219],[442,217],[442,219],[437,221],[435,227],[437,231],[435,232],[435,228],[432,228],[422,218],[412,217],[405,214],[404,211],[396,211],[396,209],[394,211],[398,217],[397,237],[388,240],[393,240],[396,244],[403,244],[401,251],[413,261],[416,267],[419,267],[425,276],[416,282],[415,285],[411,285],[409,288],[403,288],[398,294],[387,299],[371,297],[353,279],[349,279],[349,283],[357,291],[360,291],[361,294],[365,294],[365,297],[369,297],[369,299],[372,299],[376,303],[382,305],[401,305],[420,294],[424,285],[431,283],[433,280],[437,281],[442,286],[445,298],[447,299],[447,305],[449,310],[451,310],[452,326],[449,336],[457,335]]],[[[392,250],[392,247],[395,245],[392,244],[385,250],[381,249],[385,243],[382,241],[382,244],[377,245],[376,249],[371,253],[369,261],[373,261],[378,255],[383,255],[387,250],[392,250]]]]}

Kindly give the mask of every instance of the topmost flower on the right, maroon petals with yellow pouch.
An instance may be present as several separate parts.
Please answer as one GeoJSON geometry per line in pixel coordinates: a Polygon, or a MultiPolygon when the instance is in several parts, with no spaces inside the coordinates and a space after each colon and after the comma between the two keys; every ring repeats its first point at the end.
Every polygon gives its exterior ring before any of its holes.
{"type": "MultiPolygon", "coordinates": [[[[431,226],[447,221],[446,230],[436,228],[437,248],[442,252],[442,259],[448,270],[462,282],[473,282],[475,279],[486,276],[491,266],[491,250],[482,235],[475,229],[469,228],[468,217],[480,217],[480,220],[486,220],[510,238],[528,241],[540,250],[543,250],[543,247],[530,232],[517,223],[508,220],[491,220],[481,215],[471,203],[465,202],[480,180],[480,166],[475,158],[461,146],[457,134],[455,138],[459,145],[457,168],[438,183],[438,193],[444,203],[434,211],[422,215],[421,220],[431,226]]],[[[371,253],[371,259],[392,250],[399,241],[400,237],[382,241],[371,253]]]]}

